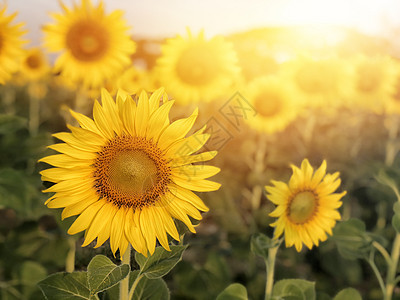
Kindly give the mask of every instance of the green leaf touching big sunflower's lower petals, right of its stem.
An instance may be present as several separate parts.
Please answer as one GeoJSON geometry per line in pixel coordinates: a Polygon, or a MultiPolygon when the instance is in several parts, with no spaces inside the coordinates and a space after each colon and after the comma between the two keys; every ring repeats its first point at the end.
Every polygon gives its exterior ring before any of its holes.
{"type": "Polygon", "coordinates": [[[163,247],[157,247],[153,255],[145,257],[140,253],[135,254],[136,262],[140,266],[140,274],[146,275],[149,279],[160,278],[172,270],[173,267],[182,259],[185,246],[171,246],[171,251],[163,247]]]}

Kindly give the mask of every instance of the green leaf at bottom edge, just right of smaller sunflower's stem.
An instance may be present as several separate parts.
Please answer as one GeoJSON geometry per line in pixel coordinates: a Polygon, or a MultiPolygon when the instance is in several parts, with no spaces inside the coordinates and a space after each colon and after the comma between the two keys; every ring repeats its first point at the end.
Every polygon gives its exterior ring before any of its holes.
{"type": "Polygon", "coordinates": [[[302,279],[284,279],[278,281],[272,289],[277,299],[315,300],[315,282],[302,279]]]}

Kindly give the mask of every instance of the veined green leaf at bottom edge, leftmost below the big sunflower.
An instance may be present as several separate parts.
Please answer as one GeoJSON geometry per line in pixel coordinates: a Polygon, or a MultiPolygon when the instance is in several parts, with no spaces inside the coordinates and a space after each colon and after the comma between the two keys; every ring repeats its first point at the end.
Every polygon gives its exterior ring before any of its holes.
{"type": "Polygon", "coordinates": [[[90,296],[86,272],[55,273],[38,283],[48,300],[96,299],[90,296]]]}

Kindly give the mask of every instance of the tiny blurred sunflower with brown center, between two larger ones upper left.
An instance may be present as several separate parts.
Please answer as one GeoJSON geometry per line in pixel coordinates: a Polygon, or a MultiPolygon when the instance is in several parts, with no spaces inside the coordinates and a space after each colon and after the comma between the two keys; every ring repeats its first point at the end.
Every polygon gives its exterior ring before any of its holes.
{"type": "Polygon", "coordinates": [[[21,75],[29,81],[42,79],[50,71],[50,65],[39,48],[32,48],[25,51],[21,63],[21,75]]]}

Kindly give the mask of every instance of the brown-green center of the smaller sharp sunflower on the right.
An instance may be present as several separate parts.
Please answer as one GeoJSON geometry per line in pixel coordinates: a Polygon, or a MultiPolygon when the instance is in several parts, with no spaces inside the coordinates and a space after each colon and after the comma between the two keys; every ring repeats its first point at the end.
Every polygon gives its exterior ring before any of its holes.
{"type": "Polygon", "coordinates": [[[295,224],[307,223],[318,206],[318,198],[313,192],[297,193],[290,201],[287,210],[288,218],[295,224]]]}

